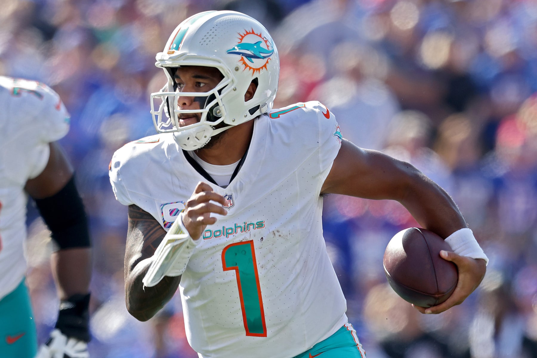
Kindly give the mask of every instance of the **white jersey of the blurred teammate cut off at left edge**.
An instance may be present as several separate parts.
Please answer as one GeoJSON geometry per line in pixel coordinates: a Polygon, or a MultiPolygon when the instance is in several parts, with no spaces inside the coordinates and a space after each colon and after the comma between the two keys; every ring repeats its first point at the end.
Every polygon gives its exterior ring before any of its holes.
{"type": "Polygon", "coordinates": [[[0,76],[0,298],[15,289],[26,271],[24,186],[48,162],[49,142],[69,130],[60,97],[35,81],[0,76]]]}

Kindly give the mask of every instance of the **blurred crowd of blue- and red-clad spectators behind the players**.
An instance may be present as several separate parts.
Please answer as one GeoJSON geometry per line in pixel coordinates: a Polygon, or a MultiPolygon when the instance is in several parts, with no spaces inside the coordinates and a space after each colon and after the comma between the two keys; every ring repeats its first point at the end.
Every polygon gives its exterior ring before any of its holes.
{"type": "MultiPolygon", "coordinates": [[[[125,143],[155,133],[149,93],[165,83],[155,54],[173,29],[223,9],[271,32],[281,58],[275,108],[320,100],[344,137],[417,166],[452,195],[490,258],[462,305],[420,315],[382,268],[389,239],[418,224],[396,202],[326,198],[327,249],[368,356],[537,357],[537,2],[3,0],[0,74],[52,86],[71,113],[61,143],[95,244],[92,357],[197,356],[179,295],[146,323],[126,311],[127,209],[114,199],[108,163],[125,143]]],[[[43,341],[58,302],[48,233],[31,204],[28,225],[43,341]]]]}

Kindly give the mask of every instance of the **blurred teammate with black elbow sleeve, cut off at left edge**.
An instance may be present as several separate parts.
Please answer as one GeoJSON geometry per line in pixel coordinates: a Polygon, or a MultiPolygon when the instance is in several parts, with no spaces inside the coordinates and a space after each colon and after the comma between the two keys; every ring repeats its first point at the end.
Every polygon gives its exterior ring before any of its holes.
{"type": "Polygon", "coordinates": [[[0,357],[89,357],[88,224],[72,167],[55,142],[69,130],[69,114],[48,86],[10,77],[0,77],[0,107],[0,357]],[[39,353],[24,279],[27,194],[52,231],[61,299],[55,329],[39,353]]]}

